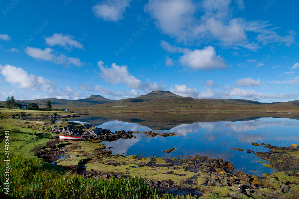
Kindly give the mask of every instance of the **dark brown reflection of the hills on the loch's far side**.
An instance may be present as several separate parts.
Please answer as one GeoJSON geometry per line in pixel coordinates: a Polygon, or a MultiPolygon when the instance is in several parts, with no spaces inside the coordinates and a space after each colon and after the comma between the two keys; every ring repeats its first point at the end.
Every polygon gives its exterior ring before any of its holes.
{"type": "Polygon", "coordinates": [[[200,114],[141,114],[141,113],[90,113],[76,118],[77,121],[87,122],[94,126],[99,126],[111,120],[118,120],[128,123],[137,123],[141,126],[147,126],[153,130],[169,130],[181,124],[191,124],[194,122],[217,122],[217,121],[248,121],[256,120],[262,117],[277,117],[299,120],[298,114],[275,114],[275,113],[221,113],[209,115],[209,113],[200,114]]]}

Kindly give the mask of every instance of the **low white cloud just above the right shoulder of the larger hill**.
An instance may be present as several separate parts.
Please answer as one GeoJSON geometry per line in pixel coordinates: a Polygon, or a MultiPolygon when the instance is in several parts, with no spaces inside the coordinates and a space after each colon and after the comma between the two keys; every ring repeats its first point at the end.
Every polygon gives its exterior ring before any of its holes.
{"type": "Polygon", "coordinates": [[[207,89],[206,92],[200,92],[196,88],[189,88],[187,85],[172,85],[170,87],[170,92],[183,96],[192,98],[215,98],[215,94],[211,89],[207,89]]]}

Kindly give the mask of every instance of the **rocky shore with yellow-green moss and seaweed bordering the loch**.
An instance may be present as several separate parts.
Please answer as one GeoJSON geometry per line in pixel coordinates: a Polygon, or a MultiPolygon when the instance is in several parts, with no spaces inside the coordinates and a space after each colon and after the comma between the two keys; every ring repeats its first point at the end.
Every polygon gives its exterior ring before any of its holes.
{"type": "MultiPolygon", "coordinates": [[[[275,147],[270,144],[257,144],[266,147],[268,152],[250,152],[259,156],[263,164],[275,171],[262,177],[234,171],[234,165],[222,159],[209,159],[206,156],[181,158],[158,158],[112,155],[102,141],[115,141],[120,138],[134,138],[133,131],[111,132],[87,123],[31,122],[16,123],[28,125],[43,132],[80,136],[84,141],[60,140],[58,135],[46,144],[33,149],[34,154],[51,164],[76,171],[87,178],[144,178],[148,185],[161,192],[191,194],[197,198],[299,198],[299,147],[275,147]],[[26,123],[26,124],[24,124],[26,123]],[[262,161],[263,160],[263,161],[262,161]]],[[[149,136],[172,136],[155,132],[142,132],[149,136]]],[[[170,149],[171,150],[171,149],[170,149]]],[[[172,148],[172,150],[175,150],[172,148]]],[[[237,150],[237,149],[236,149],[237,150]]],[[[244,151],[245,153],[245,151],[244,151]]]]}

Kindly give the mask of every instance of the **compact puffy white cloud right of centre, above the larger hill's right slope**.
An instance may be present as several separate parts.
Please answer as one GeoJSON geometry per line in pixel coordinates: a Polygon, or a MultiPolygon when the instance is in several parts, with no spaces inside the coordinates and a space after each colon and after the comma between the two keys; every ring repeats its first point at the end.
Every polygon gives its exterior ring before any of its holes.
{"type": "Polygon", "coordinates": [[[225,59],[219,55],[216,56],[213,46],[206,46],[202,50],[189,51],[179,58],[179,62],[195,70],[209,71],[213,68],[222,70],[228,68],[225,59]]]}

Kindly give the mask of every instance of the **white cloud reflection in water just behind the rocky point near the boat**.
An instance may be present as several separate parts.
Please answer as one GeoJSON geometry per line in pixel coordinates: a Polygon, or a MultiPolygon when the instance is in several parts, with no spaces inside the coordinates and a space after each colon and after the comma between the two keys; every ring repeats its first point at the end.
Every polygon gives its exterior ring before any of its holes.
{"type": "Polygon", "coordinates": [[[105,122],[99,126],[96,126],[102,129],[110,129],[111,131],[151,131],[147,126],[141,126],[136,123],[128,123],[128,122],[120,122],[117,120],[112,120],[109,122],[105,122]]]}

